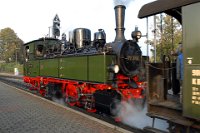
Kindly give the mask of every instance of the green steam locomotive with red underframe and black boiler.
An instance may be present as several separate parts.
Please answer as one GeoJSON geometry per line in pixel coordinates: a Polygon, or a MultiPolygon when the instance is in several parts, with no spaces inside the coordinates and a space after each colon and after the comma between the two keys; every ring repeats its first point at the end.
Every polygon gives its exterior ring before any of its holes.
{"type": "MultiPolygon", "coordinates": [[[[70,106],[89,112],[113,114],[121,101],[144,104],[145,73],[141,32],[132,32],[133,40],[124,37],[125,9],[115,8],[116,38],[106,43],[103,29],[94,33],[77,28],[69,40],[41,38],[24,44],[24,82],[48,98],[63,98],[70,106]]],[[[63,36],[65,38],[65,36],[63,36]]]]}

